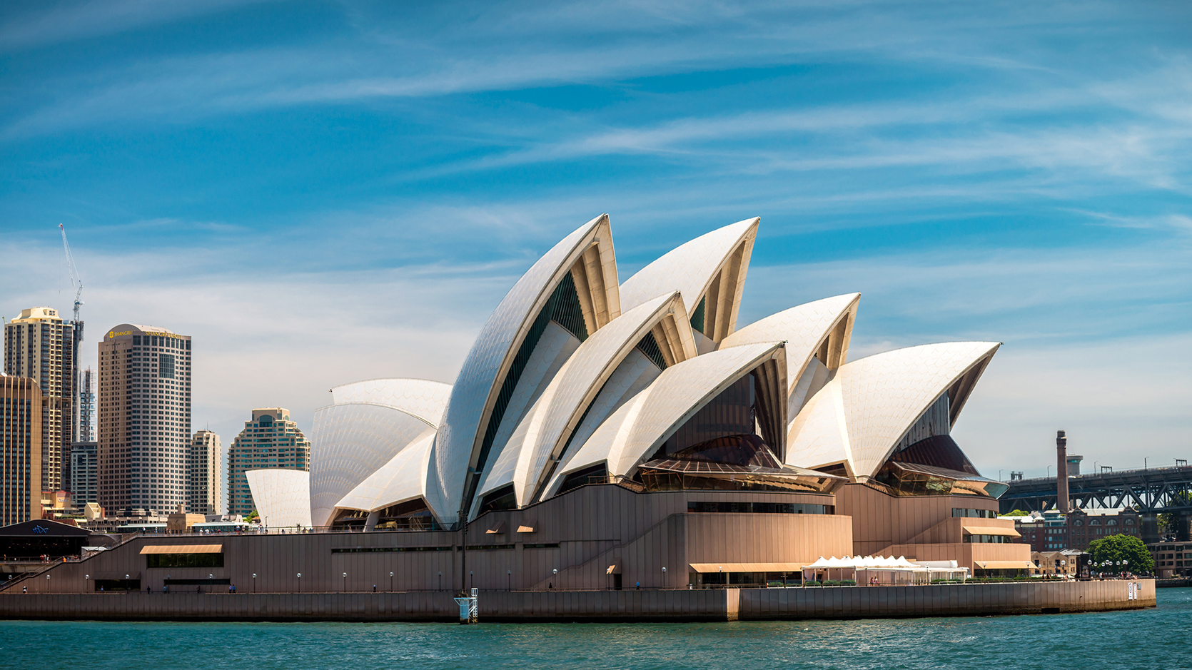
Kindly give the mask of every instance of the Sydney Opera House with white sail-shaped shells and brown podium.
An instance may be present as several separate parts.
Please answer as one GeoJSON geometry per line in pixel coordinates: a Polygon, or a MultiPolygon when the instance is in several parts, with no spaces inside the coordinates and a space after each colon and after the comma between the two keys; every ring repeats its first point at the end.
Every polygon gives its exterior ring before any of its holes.
{"type": "Polygon", "coordinates": [[[601,216],[517,280],[454,384],[333,389],[309,483],[250,477],[271,526],[330,531],[277,559],[399,589],[762,583],[830,556],[1025,567],[1005,485],[950,436],[999,345],[850,361],[858,293],[740,324],[758,224],[621,281],[601,216]]]}

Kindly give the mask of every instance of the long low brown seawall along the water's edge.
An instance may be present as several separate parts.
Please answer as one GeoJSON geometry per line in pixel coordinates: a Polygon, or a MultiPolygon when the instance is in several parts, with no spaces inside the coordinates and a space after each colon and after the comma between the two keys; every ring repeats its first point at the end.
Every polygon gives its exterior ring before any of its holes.
{"type": "MultiPolygon", "coordinates": [[[[642,591],[480,591],[480,621],[733,621],[1106,612],[1155,607],[1154,581],[642,591]]],[[[458,621],[452,594],[0,594],[0,619],[458,621]]]]}

